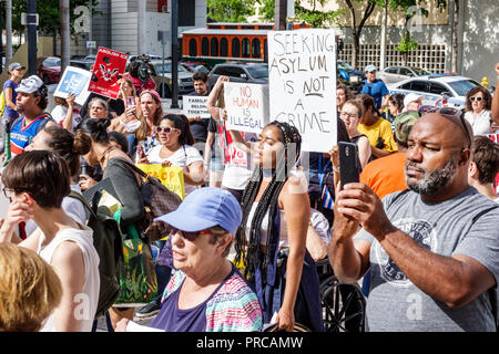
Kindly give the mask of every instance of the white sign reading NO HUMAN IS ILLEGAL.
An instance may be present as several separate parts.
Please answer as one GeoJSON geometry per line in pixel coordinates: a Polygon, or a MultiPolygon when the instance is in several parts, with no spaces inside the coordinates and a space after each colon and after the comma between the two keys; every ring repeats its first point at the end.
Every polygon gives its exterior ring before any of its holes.
{"type": "Polygon", "coordinates": [[[224,83],[227,129],[261,133],[268,124],[268,85],[224,83]]]}

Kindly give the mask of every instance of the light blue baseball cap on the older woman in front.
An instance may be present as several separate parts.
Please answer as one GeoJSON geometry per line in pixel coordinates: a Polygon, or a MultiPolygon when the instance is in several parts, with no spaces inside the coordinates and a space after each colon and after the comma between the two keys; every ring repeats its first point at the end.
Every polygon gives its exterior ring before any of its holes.
{"type": "Polygon", "coordinates": [[[175,229],[195,232],[214,226],[236,233],[243,218],[237,199],[221,188],[203,187],[192,191],[175,211],[155,218],[175,229]]]}

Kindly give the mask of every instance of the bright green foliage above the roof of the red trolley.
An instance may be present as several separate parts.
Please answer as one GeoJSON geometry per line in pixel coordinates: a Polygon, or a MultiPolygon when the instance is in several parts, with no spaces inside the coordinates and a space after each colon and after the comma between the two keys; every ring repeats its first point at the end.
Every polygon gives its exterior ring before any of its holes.
{"type": "Polygon", "coordinates": [[[255,0],[207,0],[207,18],[215,22],[247,22],[255,14],[255,0]]]}

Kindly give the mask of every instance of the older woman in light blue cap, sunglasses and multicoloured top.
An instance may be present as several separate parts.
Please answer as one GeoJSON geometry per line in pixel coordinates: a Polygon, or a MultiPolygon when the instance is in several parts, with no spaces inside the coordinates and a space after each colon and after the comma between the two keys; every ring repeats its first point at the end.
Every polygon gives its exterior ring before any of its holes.
{"type": "MultiPolygon", "coordinates": [[[[175,211],[157,218],[171,229],[170,261],[177,271],[166,285],[152,327],[122,320],[116,331],[259,331],[258,300],[226,259],[241,218],[235,197],[211,187],[194,190],[175,211]]],[[[165,250],[160,260],[169,253],[165,250]]]]}

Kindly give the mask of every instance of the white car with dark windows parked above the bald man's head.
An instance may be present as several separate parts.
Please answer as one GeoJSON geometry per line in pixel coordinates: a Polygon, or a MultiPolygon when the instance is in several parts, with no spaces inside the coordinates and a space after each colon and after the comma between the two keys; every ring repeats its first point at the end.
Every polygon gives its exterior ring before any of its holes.
{"type": "Polygon", "coordinates": [[[411,77],[398,83],[387,85],[390,94],[417,93],[422,96],[422,105],[436,105],[442,96],[447,96],[447,106],[462,110],[466,105],[466,94],[475,86],[481,86],[478,82],[466,76],[431,74],[411,77]]]}

